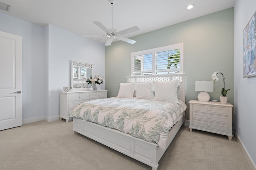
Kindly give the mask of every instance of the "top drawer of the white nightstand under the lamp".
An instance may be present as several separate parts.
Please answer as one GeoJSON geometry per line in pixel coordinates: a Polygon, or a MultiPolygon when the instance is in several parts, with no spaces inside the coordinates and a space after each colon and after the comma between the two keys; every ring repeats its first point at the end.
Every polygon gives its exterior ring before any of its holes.
{"type": "Polygon", "coordinates": [[[228,116],[228,108],[227,107],[213,107],[213,106],[202,106],[202,105],[194,104],[192,106],[192,111],[201,112],[201,113],[213,113],[213,114],[228,116]]]}

